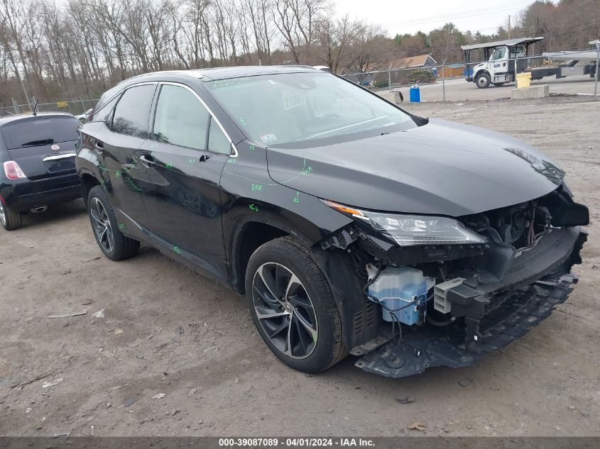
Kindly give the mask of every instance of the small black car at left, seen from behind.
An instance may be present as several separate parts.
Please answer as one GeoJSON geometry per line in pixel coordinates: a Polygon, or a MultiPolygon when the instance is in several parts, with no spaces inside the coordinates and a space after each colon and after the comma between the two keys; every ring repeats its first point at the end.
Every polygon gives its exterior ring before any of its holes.
{"type": "Polygon", "coordinates": [[[21,214],[81,197],[75,173],[80,122],[70,113],[0,118],[0,222],[22,226],[21,214]]]}

